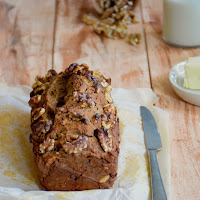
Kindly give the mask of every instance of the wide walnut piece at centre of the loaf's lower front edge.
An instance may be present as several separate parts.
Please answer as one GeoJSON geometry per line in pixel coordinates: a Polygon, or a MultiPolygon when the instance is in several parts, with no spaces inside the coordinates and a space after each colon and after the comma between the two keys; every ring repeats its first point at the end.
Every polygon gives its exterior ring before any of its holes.
{"type": "Polygon", "coordinates": [[[87,148],[87,141],[88,137],[86,136],[79,136],[77,140],[74,140],[72,142],[66,142],[63,145],[63,149],[66,153],[72,154],[72,153],[78,153],[81,152],[83,149],[87,148]]]}

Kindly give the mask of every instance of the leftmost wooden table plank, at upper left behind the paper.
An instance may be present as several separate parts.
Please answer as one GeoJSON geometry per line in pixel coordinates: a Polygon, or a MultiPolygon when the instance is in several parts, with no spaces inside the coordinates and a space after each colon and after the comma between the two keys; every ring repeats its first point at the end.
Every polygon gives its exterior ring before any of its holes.
{"type": "Polygon", "coordinates": [[[55,1],[0,2],[0,82],[31,85],[52,67],[55,1]]]}

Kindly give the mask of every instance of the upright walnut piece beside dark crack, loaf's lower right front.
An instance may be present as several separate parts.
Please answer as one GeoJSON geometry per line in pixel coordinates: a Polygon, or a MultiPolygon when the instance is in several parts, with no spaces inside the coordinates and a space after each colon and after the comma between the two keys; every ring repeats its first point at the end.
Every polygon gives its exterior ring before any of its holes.
{"type": "Polygon", "coordinates": [[[112,150],[112,136],[106,129],[97,129],[97,137],[101,144],[102,149],[105,152],[111,152],[112,150]]]}

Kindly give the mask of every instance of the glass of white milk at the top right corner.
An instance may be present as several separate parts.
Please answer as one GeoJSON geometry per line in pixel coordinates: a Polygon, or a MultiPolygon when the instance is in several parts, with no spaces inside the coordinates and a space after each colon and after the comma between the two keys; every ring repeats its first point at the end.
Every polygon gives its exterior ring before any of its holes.
{"type": "Polygon", "coordinates": [[[163,39],[177,47],[200,46],[200,0],[164,0],[163,39]]]}

